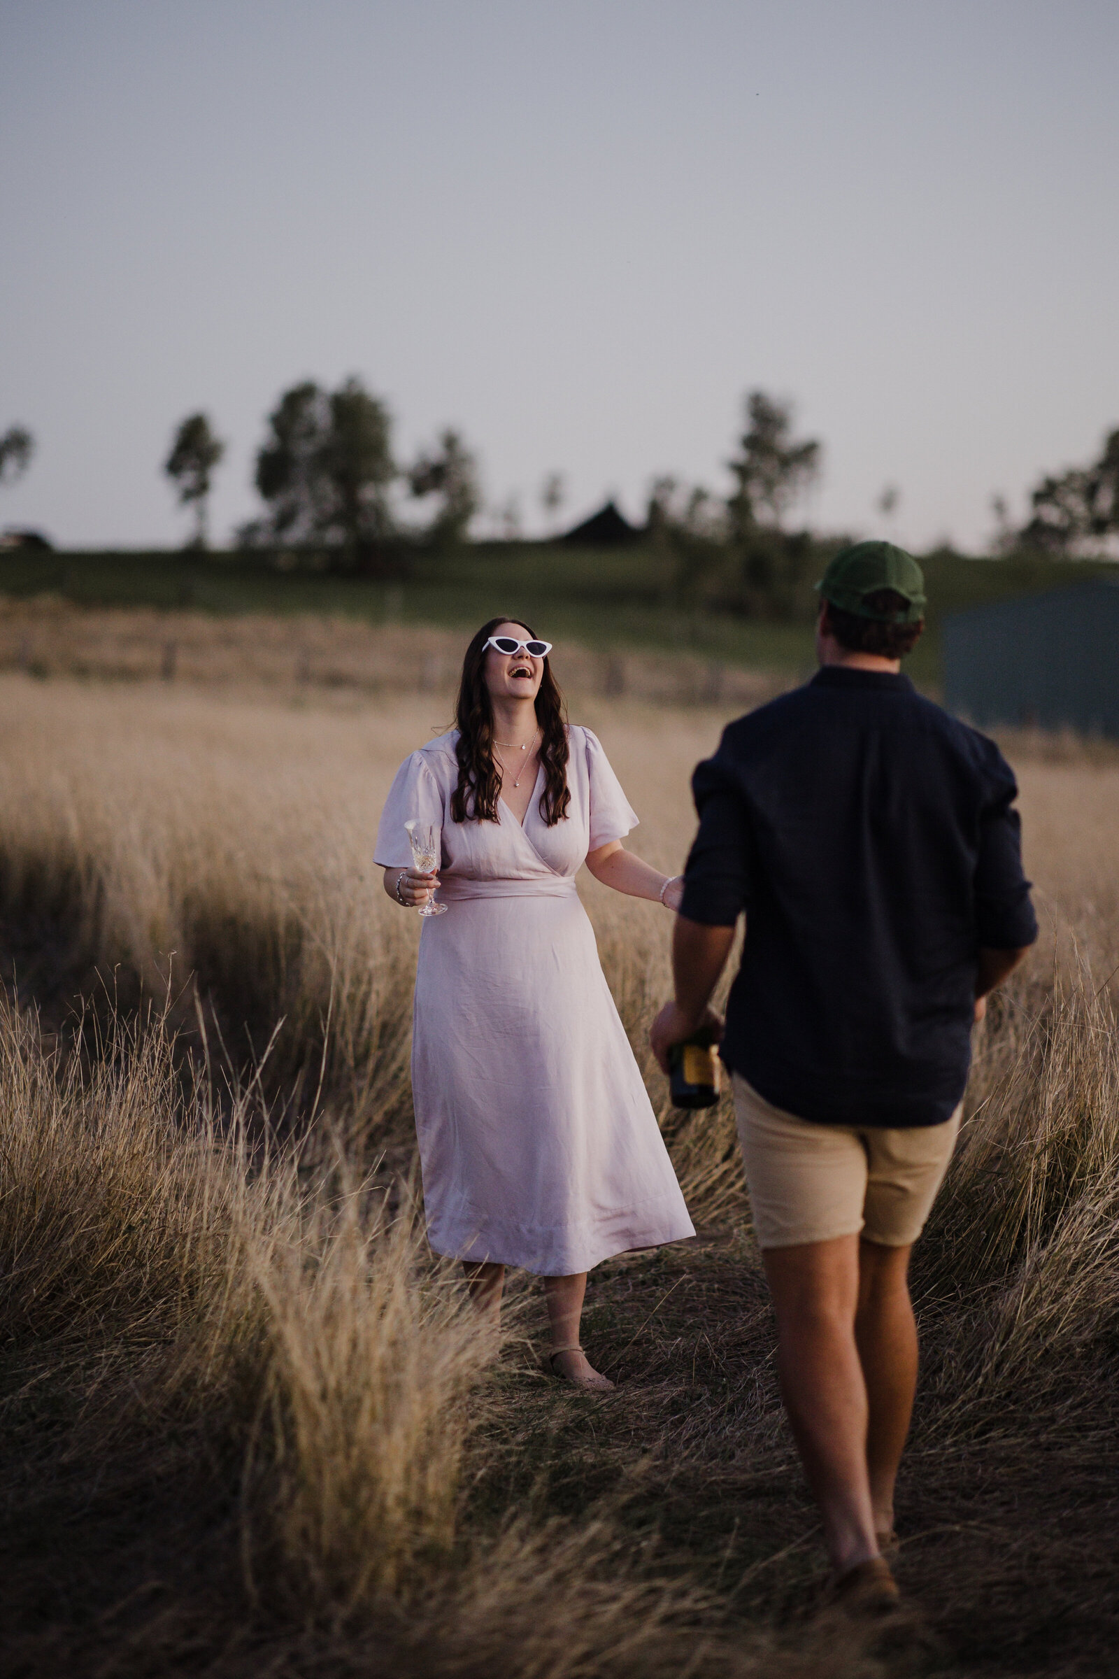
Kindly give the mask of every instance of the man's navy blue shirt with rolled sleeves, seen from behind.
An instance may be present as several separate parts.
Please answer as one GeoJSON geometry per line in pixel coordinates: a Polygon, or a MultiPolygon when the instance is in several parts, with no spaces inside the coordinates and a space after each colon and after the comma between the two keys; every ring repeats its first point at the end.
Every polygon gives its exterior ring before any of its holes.
{"type": "Polygon", "coordinates": [[[939,1125],[971,1059],[976,955],[1037,939],[1017,784],[908,677],[829,665],[693,777],[679,913],[747,912],[721,1054],[835,1125],[939,1125]]]}

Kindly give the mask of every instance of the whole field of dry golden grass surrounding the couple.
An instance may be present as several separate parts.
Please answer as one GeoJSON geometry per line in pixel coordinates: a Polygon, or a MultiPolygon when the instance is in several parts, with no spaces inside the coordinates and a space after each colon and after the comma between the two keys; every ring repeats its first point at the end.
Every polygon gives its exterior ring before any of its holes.
{"type": "MultiPolygon", "coordinates": [[[[587,883],[700,1227],[592,1274],[587,1399],[539,1370],[535,1286],[480,1336],[414,1216],[418,925],[369,856],[450,665],[413,682],[393,631],[396,680],[267,677],[238,635],[240,680],[201,643],[190,680],[183,633],[173,682],[0,675],[3,1672],[1109,1672],[1119,757],[1007,742],[1045,934],[919,1251],[914,1610],[876,1640],[817,1614],[730,1113],[673,1113],[644,1051],[668,915],[587,883]]],[[[596,670],[572,715],[678,866],[735,704],[596,670]]]]}

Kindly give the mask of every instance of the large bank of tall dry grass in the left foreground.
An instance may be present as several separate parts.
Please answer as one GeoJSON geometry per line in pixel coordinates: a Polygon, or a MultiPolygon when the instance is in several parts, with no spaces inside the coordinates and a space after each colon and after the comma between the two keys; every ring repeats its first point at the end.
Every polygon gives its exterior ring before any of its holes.
{"type": "Polygon", "coordinates": [[[341,1608],[394,1592],[453,1543],[495,1340],[408,1197],[253,1143],[245,1096],[218,1122],[161,1019],[102,1049],[49,1053],[0,999],[3,1340],[32,1370],[92,1355],[94,1392],[129,1394],[116,1429],[203,1425],[243,1454],[252,1583],[341,1608]]]}

